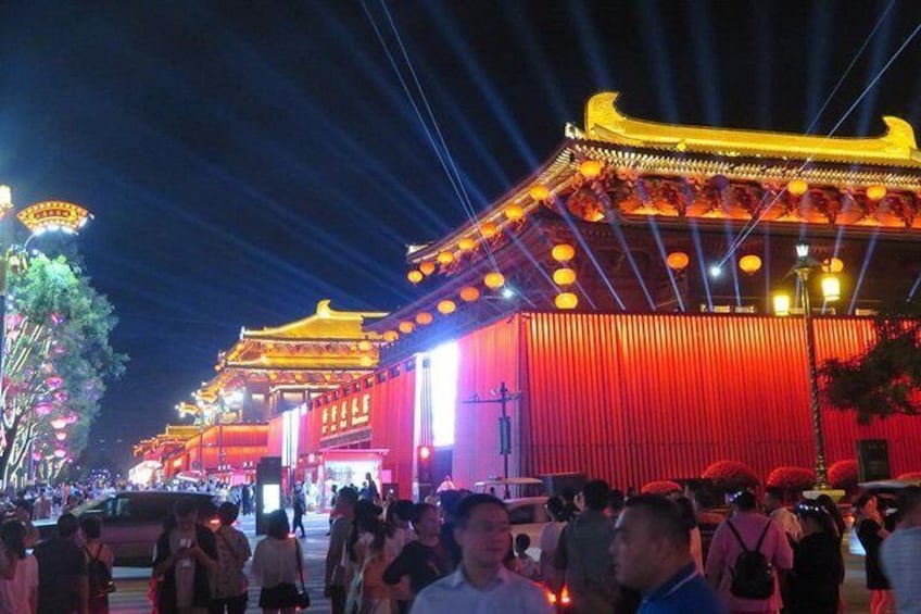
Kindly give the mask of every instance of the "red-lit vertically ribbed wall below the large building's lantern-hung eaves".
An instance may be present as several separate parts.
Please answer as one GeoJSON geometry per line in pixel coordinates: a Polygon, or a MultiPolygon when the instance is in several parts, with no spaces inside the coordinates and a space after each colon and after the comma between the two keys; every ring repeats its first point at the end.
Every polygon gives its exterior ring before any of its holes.
{"type": "MultiPolygon", "coordinates": [[[[585,472],[619,487],[693,477],[730,459],[766,475],[811,467],[799,318],[528,314],[522,475],[585,472]]],[[[816,321],[819,363],[872,337],[863,319],[816,321]]],[[[856,425],[823,412],[829,464],[855,440],[890,440],[894,474],[921,468],[921,421],[856,425]]],[[[484,451],[489,450],[489,446],[484,451]]]]}

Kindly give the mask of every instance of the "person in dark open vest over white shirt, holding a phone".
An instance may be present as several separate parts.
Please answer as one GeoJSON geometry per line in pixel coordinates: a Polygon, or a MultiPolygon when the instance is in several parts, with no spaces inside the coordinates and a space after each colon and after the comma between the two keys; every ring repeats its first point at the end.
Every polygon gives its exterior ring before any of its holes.
{"type": "Polygon", "coordinates": [[[211,602],[209,574],[217,569],[217,543],[207,527],[198,524],[192,499],[176,503],[175,525],[156,540],[153,576],[161,579],[160,614],[205,614],[211,602]]]}

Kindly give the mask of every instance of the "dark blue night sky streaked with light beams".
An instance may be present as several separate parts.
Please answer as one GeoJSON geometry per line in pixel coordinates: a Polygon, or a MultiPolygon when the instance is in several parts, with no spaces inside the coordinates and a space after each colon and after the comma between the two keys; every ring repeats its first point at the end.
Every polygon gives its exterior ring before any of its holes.
{"type": "Polygon", "coordinates": [[[835,134],[917,127],[919,27],[916,1],[4,3],[0,183],[96,214],[76,240],[131,359],[89,462],[126,467],[241,326],[407,302],[405,246],[466,218],[378,33],[480,210],[603,89],[642,118],[828,134],[908,40],[835,134]]]}

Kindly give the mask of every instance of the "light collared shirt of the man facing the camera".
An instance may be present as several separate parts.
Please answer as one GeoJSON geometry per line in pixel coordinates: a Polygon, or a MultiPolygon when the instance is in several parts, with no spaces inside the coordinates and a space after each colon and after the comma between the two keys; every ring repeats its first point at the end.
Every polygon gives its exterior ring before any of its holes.
{"type": "Polygon", "coordinates": [[[479,589],[467,581],[463,565],[426,587],[413,602],[412,614],[552,614],[546,592],[534,582],[500,567],[479,589]]]}

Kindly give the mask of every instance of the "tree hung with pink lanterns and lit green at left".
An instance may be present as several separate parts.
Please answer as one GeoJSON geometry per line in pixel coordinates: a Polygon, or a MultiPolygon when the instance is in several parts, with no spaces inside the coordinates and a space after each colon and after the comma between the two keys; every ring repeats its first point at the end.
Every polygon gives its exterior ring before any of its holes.
{"type": "Polygon", "coordinates": [[[112,304],[75,261],[34,258],[11,276],[7,300],[0,477],[10,480],[33,454],[37,474],[52,479],[86,446],[127,356],[109,343],[112,304]]]}

